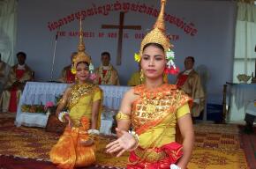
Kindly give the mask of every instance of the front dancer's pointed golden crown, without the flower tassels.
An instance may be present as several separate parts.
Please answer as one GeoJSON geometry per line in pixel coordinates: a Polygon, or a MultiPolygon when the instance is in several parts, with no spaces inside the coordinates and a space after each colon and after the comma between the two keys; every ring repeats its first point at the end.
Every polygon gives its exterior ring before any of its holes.
{"type": "Polygon", "coordinates": [[[164,25],[164,7],[166,4],[166,0],[161,0],[161,11],[156,19],[153,30],[147,33],[144,39],[141,41],[139,55],[142,55],[143,48],[148,43],[157,43],[162,45],[164,48],[164,52],[166,53],[169,48],[172,48],[172,45],[169,42],[169,39],[165,33],[165,25],[164,25]]]}

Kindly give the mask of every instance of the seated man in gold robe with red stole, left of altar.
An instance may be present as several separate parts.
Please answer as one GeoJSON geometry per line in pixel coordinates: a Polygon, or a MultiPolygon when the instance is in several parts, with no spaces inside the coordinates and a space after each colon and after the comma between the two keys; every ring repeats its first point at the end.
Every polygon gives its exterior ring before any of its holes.
{"type": "Polygon", "coordinates": [[[26,54],[17,54],[18,64],[11,67],[8,81],[4,86],[0,103],[3,112],[16,112],[19,96],[24,89],[26,81],[33,79],[33,71],[26,65],[26,54]]]}

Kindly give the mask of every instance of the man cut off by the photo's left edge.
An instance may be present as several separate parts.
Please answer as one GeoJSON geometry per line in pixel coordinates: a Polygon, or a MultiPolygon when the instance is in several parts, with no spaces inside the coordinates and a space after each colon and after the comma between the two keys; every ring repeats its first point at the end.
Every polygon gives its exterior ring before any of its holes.
{"type": "Polygon", "coordinates": [[[10,66],[2,61],[2,55],[0,54],[0,95],[3,92],[4,85],[7,82],[10,66]]]}

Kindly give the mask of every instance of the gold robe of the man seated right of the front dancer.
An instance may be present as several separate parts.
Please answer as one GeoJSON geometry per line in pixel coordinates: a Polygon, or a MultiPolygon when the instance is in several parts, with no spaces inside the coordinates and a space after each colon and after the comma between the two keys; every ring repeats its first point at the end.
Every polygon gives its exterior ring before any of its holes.
{"type": "MultiPolygon", "coordinates": [[[[181,72],[179,75],[182,75],[183,73],[184,71],[181,72]]],[[[179,77],[179,75],[177,76],[177,78],[179,77]]],[[[199,74],[195,70],[192,70],[188,74],[186,81],[180,88],[192,99],[200,99],[200,104],[194,103],[192,107],[192,116],[198,117],[200,115],[200,112],[205,107],[205,92],[201,85],[199,74]]]]}

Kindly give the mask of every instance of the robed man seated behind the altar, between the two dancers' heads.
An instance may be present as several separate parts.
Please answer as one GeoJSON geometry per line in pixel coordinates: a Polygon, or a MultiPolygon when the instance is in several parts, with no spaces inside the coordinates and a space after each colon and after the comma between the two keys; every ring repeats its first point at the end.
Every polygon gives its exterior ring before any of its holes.
{"type": "Polygon", "coordinates": [[[109,52],[102,53],[102,65],[95,70],[95,84],[119,85],[117,70],[110,63],[109,52]]]}

